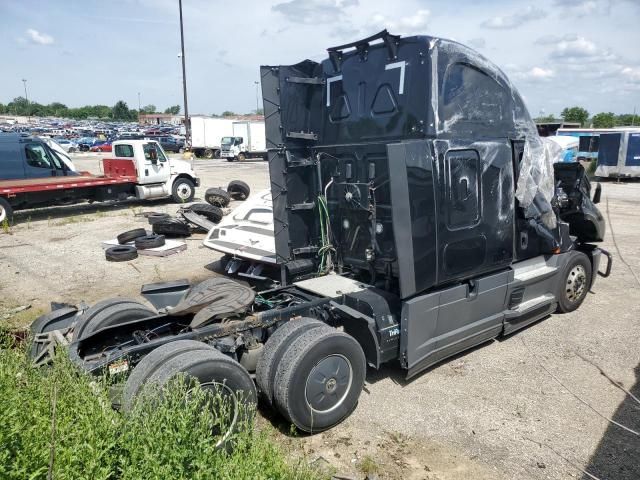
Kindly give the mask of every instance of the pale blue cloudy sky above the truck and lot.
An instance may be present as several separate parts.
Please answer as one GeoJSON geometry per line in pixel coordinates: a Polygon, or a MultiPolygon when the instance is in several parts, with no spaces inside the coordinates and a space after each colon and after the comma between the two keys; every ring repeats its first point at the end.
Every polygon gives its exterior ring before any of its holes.
{"type": "MultiPolygon", "coordinates": [[[[640,111],[640,0],[183,0],[193,113],[255,109],[261,64],[320,60],[382,28],[457,40],[533,116],[640,111]]],[[[0,0],[0,102],[182,105],[178,0],[0,0]]]]}

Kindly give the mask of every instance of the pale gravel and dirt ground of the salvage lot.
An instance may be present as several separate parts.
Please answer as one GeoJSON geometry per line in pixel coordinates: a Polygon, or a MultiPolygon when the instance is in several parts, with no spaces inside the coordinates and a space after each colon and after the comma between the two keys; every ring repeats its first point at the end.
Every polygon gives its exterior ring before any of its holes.
{"type": "MultiPolygon", "coordinates": [[[[97,171],[98,157],[78,157],[76,164],[97,171]]],[[[235,178],[254,191],[268,186],[264,162],[198,160],[196,170],[203,179],[198,196],[235,178]]],[[[279,438],[292,452],[353,478],[589,478],[581,470],[603,480],[640,478],[640,437],[567,390],[640,431],[640,404],[594,366],[640,397],[639,202],[640,183],[603,185],[600,207],[609,219],[603,246],[615,265],[578,311],[450,359],[411,382],[393,365],[370,371],[354,414],[324,434],[291,436],[268,411],[265,421],[283,431],[279,438]]],[[[172,257],[105,261],[102,240],[144,225],[142,211],[176,208],[154,202],[19,214],[10,233],[0,232],[0,318],[18,305],[37,310],[51,300],[136,296],[145,282],[211,275],[207,266],[218,255],[202,246],[203,235],[172,257]]]]}

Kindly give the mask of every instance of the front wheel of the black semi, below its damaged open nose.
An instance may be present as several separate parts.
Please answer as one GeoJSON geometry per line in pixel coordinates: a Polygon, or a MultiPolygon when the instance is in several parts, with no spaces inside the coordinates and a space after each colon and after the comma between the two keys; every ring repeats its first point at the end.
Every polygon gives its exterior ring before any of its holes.
{"type": "Polygon", "coordinates": [[[591,262],[582,252],[572,252],[564,267],[556,298],[557,312],[567,313],[577,309],[591,288],[591,262]]]}

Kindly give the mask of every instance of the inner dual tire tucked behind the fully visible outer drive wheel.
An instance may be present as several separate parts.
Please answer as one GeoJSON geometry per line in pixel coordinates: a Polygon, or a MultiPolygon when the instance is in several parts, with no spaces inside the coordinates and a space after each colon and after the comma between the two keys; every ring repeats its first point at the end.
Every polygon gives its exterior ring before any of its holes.
{"type": "Polygon", "coordinates": [[[256,368],[256,383],[261,396],[270,405],[273,404],[273,381],[276,376],[276,369],[282,360],[285,350],[293,340],[303,333],[321,327],[330,328],[315,318],[303,317],[299,320],[290,320],[278,328],[265,343],[262,356],[258,360],[256,368]]]}

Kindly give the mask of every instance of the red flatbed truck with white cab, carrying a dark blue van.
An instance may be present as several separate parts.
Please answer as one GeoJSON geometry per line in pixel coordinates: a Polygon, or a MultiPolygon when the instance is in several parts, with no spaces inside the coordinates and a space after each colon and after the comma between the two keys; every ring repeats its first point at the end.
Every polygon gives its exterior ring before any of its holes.
{"type": "Polygon", "coordinates": [[[116,158],[102,160],[103,175],[74,172],[34,137],[0,135],[0,223],[14,210],[78,201],[172,197],[193,200],[200,184],[191,164],[169,159],[150,140],[114,142],[116,158]]]}

